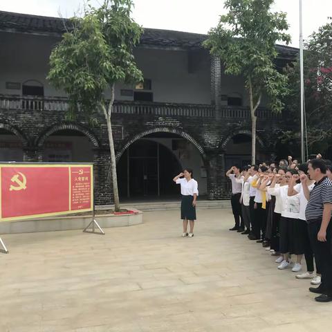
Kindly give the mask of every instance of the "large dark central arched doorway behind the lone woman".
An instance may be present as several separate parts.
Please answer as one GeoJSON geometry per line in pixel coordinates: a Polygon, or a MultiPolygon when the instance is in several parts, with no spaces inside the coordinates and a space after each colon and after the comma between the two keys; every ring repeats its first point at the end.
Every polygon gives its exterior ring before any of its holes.
{"type": "Polygon", "coordinates": [[[122,198],[167,199],[180,194],[172,178],[192,167],[199,192],[207,193],[206,172],[200,151],[176,133],[150,133],[127,147],[118,160],[118,186],[122,198]]]}

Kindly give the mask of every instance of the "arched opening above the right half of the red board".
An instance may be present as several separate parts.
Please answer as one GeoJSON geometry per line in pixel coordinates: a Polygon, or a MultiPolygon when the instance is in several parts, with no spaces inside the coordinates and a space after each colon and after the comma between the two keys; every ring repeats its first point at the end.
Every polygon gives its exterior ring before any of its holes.
{"type": "Polygon", "coordinates": [[[54,131],[44,140],[42,160],[49,163],[92,163],[93,143],[75,129],[54,131]]]}

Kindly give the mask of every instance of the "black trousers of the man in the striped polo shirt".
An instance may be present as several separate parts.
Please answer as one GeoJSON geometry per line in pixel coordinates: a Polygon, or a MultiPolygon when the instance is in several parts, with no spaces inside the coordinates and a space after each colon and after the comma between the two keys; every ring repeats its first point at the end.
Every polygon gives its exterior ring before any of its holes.
{"type": "Polygon", "coordinates": [[[322,220],[308,223],[308,234],[315,255],[317,270],[322,274],[322,288],[324,294],[332,296],[332,225],[331,221],[326,230],[326,242],[317,240],[322,220]]]}

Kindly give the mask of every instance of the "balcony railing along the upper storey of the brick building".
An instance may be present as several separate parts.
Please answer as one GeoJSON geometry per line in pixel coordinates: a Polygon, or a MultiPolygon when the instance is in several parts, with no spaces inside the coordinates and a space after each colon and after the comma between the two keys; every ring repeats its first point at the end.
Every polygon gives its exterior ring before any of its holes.
{"type": "MultiPolygon", "coordinates": [[[[27,110],[27,111],[68,111],[67,98],[52,97],[21,97],[12,95],[0,95],[0,109],[2,110],[27,110]]],[[[216,111],[213,105],[206,104],[174,104],[161,102],[129,102],[116,100],[113,105],[113,113],[136,114],[154,116],[185,116],[214,118],[216,112],[220,118],[250,119],[248,107],[221,107],[216,111]]],[[[259,119],[276,119],[280,116],[269,109],[257,109],[259,119]]]]}

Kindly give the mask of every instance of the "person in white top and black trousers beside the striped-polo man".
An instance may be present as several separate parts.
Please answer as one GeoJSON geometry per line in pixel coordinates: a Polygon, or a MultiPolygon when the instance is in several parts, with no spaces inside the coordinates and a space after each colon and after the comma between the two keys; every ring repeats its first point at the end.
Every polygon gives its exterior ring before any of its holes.
{"type": "MultiPolygon", "coordinates": [[[[310,180],[307,176],[308,174],[308,164],[304,163],[299,165],[299,175],[301,176],[304,174],[306,176],[306,183],[305,185],[308,187],[309,192],[313,190],[315,186],[315,181],[310,180]]],[[[303,184],[299,183],[295,185],[295,181],[299,179],[299,176],[293,176],[292,181],[289,183],[288,187],[288,196],[294,196],[299,194],[299,220],[297,223],[297,228],[294,230],[294,241],[295,246],[299,252],[304,254],[306,258],[306,268],[307,272],[297,275],[297,279],[313,279],[311,284],[319,285],[321,281],[320,277],[320,266],[317,266],[316,262],[316,275],[314,272],[314,265],[313,265],[313,250],[311,248],[311,243],[308,234],[308,224],[306,223],[306,205],[308,200],[304,195],[303,184]]],[[[296,225],[296,224],[295,224],[296,225]]],[[[319,265],[319,264],[318,264],[319,265]]]]}

